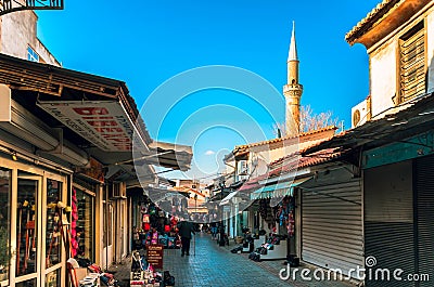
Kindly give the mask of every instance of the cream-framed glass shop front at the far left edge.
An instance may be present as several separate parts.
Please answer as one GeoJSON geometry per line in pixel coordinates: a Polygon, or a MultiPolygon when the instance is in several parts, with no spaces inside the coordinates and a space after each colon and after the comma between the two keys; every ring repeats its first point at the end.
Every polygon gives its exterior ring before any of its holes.
{"type": "Polygon", "coordinates": [[[54,166],[36,166],[20,154],[14,159],[0,153],[0,249],[2,253],[9,249],[0,258],[0,284],[62,286],[66,214],[59,203],[67,203],[72,173],[54,166]]]}

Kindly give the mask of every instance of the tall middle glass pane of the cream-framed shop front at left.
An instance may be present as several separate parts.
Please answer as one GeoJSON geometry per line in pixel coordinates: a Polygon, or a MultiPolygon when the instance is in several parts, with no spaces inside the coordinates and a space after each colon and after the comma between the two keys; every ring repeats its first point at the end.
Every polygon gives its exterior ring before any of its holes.
{"type": "Polygon", "coordinates": [[[37,177],[18,173],[15,272],[17,276],[37,272],[39,183],[37,177]]]}

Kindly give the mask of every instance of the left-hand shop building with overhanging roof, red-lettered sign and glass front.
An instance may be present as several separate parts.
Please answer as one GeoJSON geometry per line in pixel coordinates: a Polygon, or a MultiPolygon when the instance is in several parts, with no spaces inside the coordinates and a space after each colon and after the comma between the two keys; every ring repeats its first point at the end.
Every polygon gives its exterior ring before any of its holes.
{"type": "Polygon", "coordinates": [[[1,203],[8,207],[1,223],[16,252],[1,284],[63,286],[69,251],[102,266],[119,261],[131,248],[132,132],[155,158],[141,167],[150,182],[152,164],[184,169],[189,162],[174,166],[175,149],[153,147],[122,81],[8,55],[0,55],[0,68],[1,203]],[[59,201],[72,207],[66,221],[59,220],[59,201]],[[71,249],[61,239],[62,222],[71,249]]]}

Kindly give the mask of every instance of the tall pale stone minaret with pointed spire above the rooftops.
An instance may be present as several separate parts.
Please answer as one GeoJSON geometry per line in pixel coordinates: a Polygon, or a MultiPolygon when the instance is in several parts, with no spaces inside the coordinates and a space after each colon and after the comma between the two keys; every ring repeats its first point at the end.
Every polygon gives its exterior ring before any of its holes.
{"type": "Polygon", "coordinates": [[[298,56],[295,43],[295,24],[293,22],[290,53],[288,55],[288,83],[283,86],[286,100],[286,134],[297,135],[299,130],[299,101],[303,86],[298,83],[298,56]]]}

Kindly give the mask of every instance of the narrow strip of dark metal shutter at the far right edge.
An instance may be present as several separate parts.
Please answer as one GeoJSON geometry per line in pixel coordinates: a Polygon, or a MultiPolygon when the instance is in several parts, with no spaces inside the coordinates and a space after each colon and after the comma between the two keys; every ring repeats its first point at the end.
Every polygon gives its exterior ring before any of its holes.
{"type": "Polygon", "coordinates": [[[421,287],[433,286],[434,266],[434,156],[416,160],[416,190],[418,218],[418,270],[430,274],[430,282],[420,282],[421,287]]]}

